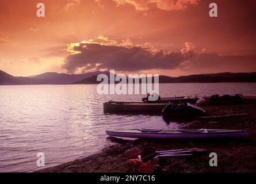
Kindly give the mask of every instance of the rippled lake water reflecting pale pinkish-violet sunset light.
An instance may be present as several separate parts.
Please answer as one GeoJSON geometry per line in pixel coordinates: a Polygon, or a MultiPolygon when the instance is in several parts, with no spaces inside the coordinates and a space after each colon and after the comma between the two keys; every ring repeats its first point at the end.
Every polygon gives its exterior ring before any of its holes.
{"type": "MultiPolygon", "coordinates": [[[[256,83],[160,84],[161,97],[212,94],[256,95],[256,83]]],[[[162,116],[104,114],[102,103],[140,101],[144,95],[98,95],[97,85],[0,86],[0,172],[38,169],[99,152],[114,144],[105,134],[117,128],[173,128],[162,116]]]]}

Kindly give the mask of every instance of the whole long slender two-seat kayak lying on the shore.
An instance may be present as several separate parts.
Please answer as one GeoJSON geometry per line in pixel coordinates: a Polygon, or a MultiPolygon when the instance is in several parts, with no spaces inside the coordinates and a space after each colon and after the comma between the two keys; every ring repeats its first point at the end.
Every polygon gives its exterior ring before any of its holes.
{"type": "Polygon", "coordinates": [[[114,137],[147,138],[147,139],[200,139],[212,137],[245,137],[248,131],[226,129],[119,129],[106,131],[114,137]]]}

